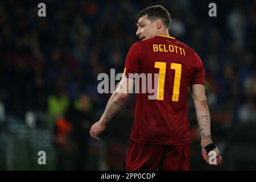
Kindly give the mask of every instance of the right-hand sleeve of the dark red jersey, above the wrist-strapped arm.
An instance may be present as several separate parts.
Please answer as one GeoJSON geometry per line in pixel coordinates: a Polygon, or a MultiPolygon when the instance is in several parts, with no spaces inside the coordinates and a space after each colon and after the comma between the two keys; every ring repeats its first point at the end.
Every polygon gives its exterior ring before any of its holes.
{"type": "Polygon", "coordinates": [[[190,82],[190,85],[193,84],[202,84],[205,85],[205,71],[204,71],[204,65],[200,59],[200,57],[194,52],[194,61],[195,61],[195,67],[193,76],[190,82]]]}

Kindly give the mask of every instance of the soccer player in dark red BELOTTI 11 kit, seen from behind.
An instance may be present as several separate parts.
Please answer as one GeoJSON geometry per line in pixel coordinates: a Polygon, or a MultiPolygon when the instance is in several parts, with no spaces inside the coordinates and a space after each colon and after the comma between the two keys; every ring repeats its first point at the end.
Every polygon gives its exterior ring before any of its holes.
{"type": "Polygon", "coordinates": [[[90,129],[91,137],[100,140],[98,135],[129,96],[134,85],[129,78],[131,73],[159,73],[157,98],[149,100],[148,93],[137,95],[126,170],[191,169],[186,109],[189,87],[200,127],[203,159],[216,166],[222,161],[210,135],[203,63],[192,48],[168,34],[170,22],[171,16],[163,6],[147,7],[138,14],[136,35],[141,41],[133,44],[127,54],[126,77],[110,97],[100,121],[90,129]],[[209,160],[212,156],[215,156],[213,162],[209,160]]]}

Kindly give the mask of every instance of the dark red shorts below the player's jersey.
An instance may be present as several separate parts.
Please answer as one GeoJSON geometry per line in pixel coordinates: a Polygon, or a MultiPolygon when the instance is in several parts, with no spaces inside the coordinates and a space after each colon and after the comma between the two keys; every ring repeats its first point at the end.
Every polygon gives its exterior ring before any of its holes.
{"type": "Polygon", "coordinates": [[[160,146],[130,141],[126,170],[191,170],[189,145],[160,146]]]}

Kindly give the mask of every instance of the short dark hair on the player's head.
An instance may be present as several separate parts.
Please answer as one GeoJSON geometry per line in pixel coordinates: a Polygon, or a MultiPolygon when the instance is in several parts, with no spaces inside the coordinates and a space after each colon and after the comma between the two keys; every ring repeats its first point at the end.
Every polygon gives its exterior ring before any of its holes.
{"type": "Polygon", "coordinates": [[[157,18],[160,18],[163,20],[164,27],[167,28],[170,26],[171,15],[163,6],[156,5],[147,7],[146,9],[139,12],[138,19],[144,15],[147,15],[147,18],[151,22],[155,21],[157,18]]]}

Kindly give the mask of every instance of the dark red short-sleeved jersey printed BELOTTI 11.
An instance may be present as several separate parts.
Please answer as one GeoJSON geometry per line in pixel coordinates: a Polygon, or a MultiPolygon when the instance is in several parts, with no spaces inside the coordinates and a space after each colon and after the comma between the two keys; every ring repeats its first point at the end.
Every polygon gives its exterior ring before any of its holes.
{"type": "MultiPolygon", "coordinates": [[[[192,48],[170,36],[154,36],[130,48],[125,63],[129,73],[159,73],[156,99],[137,94],[130,139],[138,143],[189,143],[187,93],[192,84],[205,84],[203,63],[192,48]]],[[[142,80],[141,80],[142,82],[142,80]]],[[[141,83],[142,85],[143,83],[141,83]]]]}

